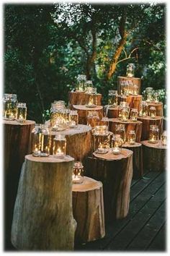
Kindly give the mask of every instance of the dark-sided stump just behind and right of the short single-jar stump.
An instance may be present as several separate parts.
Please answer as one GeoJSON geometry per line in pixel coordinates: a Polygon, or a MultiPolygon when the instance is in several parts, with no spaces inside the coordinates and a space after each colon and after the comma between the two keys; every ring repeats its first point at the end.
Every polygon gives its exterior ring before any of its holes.
{"type": "Polygon", "coordinates": [[[123,148],[120,155],[114,155],[109,149],[107,154],[93,155],[94,158],[87,158],[85,171],[86,175],[103,184],[105,221],[125,218],[129,210],[133,177],[133,151],[123,148]]]}

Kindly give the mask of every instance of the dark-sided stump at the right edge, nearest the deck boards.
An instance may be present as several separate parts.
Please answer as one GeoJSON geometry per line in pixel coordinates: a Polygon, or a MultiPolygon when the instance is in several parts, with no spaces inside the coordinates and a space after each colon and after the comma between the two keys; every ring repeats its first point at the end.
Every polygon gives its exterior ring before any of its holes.
{"type": "Polygon", "coordinates": [[[161,141],[156,144],[144,140],[143,145],[143,168],[147,171],[165,171],[166,170],[166,149],[161,145],[161,141]]]}

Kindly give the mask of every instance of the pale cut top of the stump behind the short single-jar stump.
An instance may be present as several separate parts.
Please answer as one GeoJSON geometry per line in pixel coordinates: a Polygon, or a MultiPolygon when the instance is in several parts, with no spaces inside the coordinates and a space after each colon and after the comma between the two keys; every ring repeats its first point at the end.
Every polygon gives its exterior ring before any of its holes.
{"type": "Polygon", "coordinates": [[[133,155],[133,151],[132,150],[128,150],[128,149],[125,149],[125,148],[122,148],[121,152],[119,155],[114,155],[112,153],[112,149],[109,148],[109,152],[106,153],[106,154],[99,154],[99,153],[93,153],[93,155],[96,157],[96,158],[102,158],[104,160],[108,160],[108,161],[115,161],[115,160],[121,160],[123,158],[129,158],[130,155],[133,155]]]}

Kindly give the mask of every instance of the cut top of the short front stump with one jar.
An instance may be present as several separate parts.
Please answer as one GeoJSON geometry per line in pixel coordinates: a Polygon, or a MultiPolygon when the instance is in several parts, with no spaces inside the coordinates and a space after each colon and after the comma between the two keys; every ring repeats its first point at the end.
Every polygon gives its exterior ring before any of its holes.
{"type": "Polygon", "coordinates": [[[95,190],[102,187],[102,182],[98,182],[95,179],[84,176],[84,182],[81,184],[73,184],[73,192],[86,192],[89,190],[95,190]]]}

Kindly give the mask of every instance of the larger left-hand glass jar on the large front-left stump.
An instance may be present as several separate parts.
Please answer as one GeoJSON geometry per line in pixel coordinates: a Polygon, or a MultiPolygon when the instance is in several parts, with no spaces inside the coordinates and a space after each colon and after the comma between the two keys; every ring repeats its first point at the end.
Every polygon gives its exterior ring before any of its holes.
{"type": "Polygon", "coordinates": [[[32,129],[32,155],[50,155],[51,135],[47,124],[35,124],[32,129]]]}

